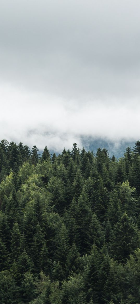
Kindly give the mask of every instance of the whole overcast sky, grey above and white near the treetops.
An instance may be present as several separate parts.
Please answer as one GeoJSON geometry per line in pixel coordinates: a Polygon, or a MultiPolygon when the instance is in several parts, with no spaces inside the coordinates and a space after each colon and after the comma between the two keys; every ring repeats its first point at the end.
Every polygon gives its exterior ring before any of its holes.
{"type": "Polygon", "coordinates": [[[140,2],[1,0],[0,139],[140,138],[140,2]]]}

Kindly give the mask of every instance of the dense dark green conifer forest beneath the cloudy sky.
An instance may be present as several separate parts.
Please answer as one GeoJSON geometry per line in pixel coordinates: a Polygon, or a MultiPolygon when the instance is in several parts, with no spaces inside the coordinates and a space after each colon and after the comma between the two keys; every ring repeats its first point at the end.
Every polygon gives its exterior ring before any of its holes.
{"type": "Polygon", "coordinates": [[[140,302],[140,141],[124,156],[0,143],[0,303],[140,302]]]}

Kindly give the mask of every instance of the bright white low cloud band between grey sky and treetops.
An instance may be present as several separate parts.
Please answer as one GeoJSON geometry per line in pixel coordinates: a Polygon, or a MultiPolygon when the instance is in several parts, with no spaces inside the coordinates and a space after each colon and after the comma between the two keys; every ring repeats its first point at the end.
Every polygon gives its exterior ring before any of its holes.
{"type": "Polygon", "coordinates": [[[101,137],[119,141],[137,140],[140,134],[140,104],[135,100],[122,105],[115,101],[65,102],[56,96],[25,92],[10,85],[0,87],[0,138],[20,140],[32,147],[60,152],[73,142],[82,146],[81,137],[101,137]]]}

